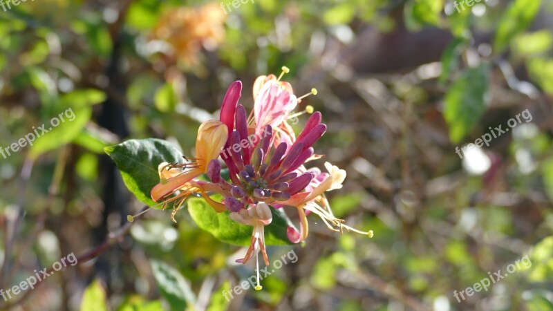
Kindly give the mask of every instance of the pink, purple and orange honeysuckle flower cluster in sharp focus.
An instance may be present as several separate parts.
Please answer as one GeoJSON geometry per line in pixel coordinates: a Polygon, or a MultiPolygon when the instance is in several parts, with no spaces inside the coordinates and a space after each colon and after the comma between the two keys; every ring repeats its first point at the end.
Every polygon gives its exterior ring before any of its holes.
{"type": "MultiPolygon", "coordinates": [[[[303,97],[317,91],[312,89],[311,93],[296,97],[292,86],[281,81],[287,72],[288,68],[283,67],[278,78],[268,75],[256,79],[250,115],[238,104],[241,82],[231,84],[223,100],[220,120],[209,120],[198,129],[194,162],[161,163],[161,181],[151,190],[153,200],[162,200],[164,204],[175,202],[174,213],[188,196],[201,194],[217,212],[229,211],[232,220],[254,227],[250,247],[237,262],[245,263],[255,256],[258,273],[260,252],[265,265],[269,265],[264,228],[272,222],[272,208],[297,209],[299,232],[294,227],[288,227],[286,232],[292,243],[307,238],[309,213],[317,214],[332,231],[342,233],[346,229],[373,235],[372,231],[360,232],[336,218],[324,196],[326,191],[342,187],[346,171],[328,162],[325,163],[328,173],[304,166],[321,158],[312,146],[326,132],[326,124],[321,123],[321,113],[313,113],[308,106],[306,111],[312,114],[296,137],[288,119],[297,115],[291,113],[303,97]],[[220,157],[229,171],[229,180],[221,176],[220,157]],[[202,174],[210,182],[197,179],[202,174]],[[222,202],[209,197],[214,193],[224,197],[222,202]]],[[[261,289],[259,278],[256,289],[261,289]]]]}

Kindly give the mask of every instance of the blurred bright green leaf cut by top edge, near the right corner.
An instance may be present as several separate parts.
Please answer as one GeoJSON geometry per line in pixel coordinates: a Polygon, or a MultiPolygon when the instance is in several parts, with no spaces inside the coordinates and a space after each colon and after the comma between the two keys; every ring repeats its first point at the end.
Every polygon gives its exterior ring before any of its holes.
{"type": "Polygon", "coordinates": [[[499,21],[494,48],[500,53],[509,42],[532,22],[541,6],[541,0],[514,0],[499,21]]]}

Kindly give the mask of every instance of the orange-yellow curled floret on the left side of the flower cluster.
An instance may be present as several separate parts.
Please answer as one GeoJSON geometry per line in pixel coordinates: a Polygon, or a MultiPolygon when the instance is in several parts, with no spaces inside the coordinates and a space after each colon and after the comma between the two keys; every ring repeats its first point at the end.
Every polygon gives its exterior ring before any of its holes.
{"type": "MultiPolygon", "coordinates": [[[[203,122],[198,129],[198,136],[196,138],[196,162],[186,164],[185,169],[188,171],[181,171],[176,173],[171,171],[164,175],[160,172],[161,182],[151,189],[151,198],[154,201],[158,201],[161,198],[174,193],[175,191],[185,187],[187,182],[190,182],[193,178],[200,176],[207,171],[207,164],[218,158],[219,153],[225,143],[227,142],[228,129],[223,122],[216,120],[209,120],[203,122]],[[169,178],[166,178],[169,177],[169,178]]],[[[167,169],[180,168],[182,165],[171,164],[167,166],[167,169]]]]}

